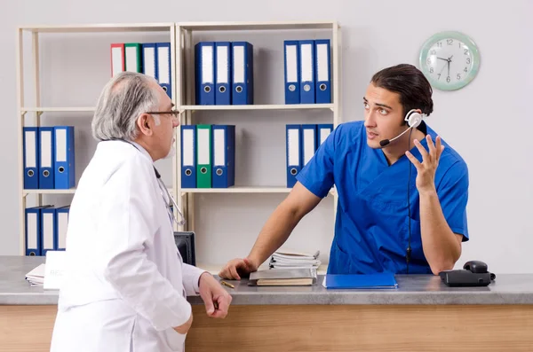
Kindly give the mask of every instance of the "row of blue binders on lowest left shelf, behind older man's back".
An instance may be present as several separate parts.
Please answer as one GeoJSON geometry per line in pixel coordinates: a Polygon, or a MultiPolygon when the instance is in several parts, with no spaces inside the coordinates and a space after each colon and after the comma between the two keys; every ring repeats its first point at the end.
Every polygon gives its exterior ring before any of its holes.
{"type": "Polygon", "coordinates": [[[65,250],[69,211],[70,206],[26,208],[26,255],[44,256],[48,251],[65,250]]]}

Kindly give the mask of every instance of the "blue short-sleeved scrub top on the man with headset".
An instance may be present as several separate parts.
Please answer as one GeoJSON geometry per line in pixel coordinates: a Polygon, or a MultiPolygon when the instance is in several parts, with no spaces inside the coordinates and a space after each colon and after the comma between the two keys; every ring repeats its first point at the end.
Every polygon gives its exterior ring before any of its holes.
{"type": "MultiPolygon", "coordinates": [[[[435,140],[434,130],[424,127],[435,140]]],[[[428,150],[426,139],[421,144],[428,150]]],[[[466,241],[468,168],[457,152],[443,140],[442,144],[445,148],[436,170],[435,186],[451,231],[462,234],[463,241],[466,241]]],[[[422,161],[417,147],[413,146],[410,152],[422,161]]],[[[431,273],[420,237],[417,168],[405,155],[389,166],[383,151],[367,145],[363,121],[339,124],[297,178],[320,198],[328,194],[333,184],[337,187],[337,219],[328,273],[431,273]],[[408,271],[409,233],[411,259],[408,271]]]]}

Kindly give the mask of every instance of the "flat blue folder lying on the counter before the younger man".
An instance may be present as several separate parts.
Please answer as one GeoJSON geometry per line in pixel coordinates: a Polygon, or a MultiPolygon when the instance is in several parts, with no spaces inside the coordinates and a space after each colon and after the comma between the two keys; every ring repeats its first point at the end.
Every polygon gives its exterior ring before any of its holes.
{"type": "Polygon", "coordinates": [[[398,283],[393,273],[366,275],[326,275],[327,289],[358,289],[358,288],[397,288],[398,283]]]}

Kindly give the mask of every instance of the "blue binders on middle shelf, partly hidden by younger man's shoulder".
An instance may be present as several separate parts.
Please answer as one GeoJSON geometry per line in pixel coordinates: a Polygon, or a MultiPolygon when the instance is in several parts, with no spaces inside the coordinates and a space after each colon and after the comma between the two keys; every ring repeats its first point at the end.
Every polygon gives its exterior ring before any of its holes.
{"type": "Polygon", "coordinates": [[[313,158],[332,130],[331,123],[286,125],[287,188],[294,187],[296,176],[313,158]]]}

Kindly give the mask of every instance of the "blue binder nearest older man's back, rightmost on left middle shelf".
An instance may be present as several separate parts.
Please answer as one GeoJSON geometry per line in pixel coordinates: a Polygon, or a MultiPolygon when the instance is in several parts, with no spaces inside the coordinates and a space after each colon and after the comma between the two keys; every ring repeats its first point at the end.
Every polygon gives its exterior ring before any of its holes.
{"type": "Polygon", "coordinates": [[[68,190],[76,185],[74,127],[55,126],[55,188],[68,190]]]}

